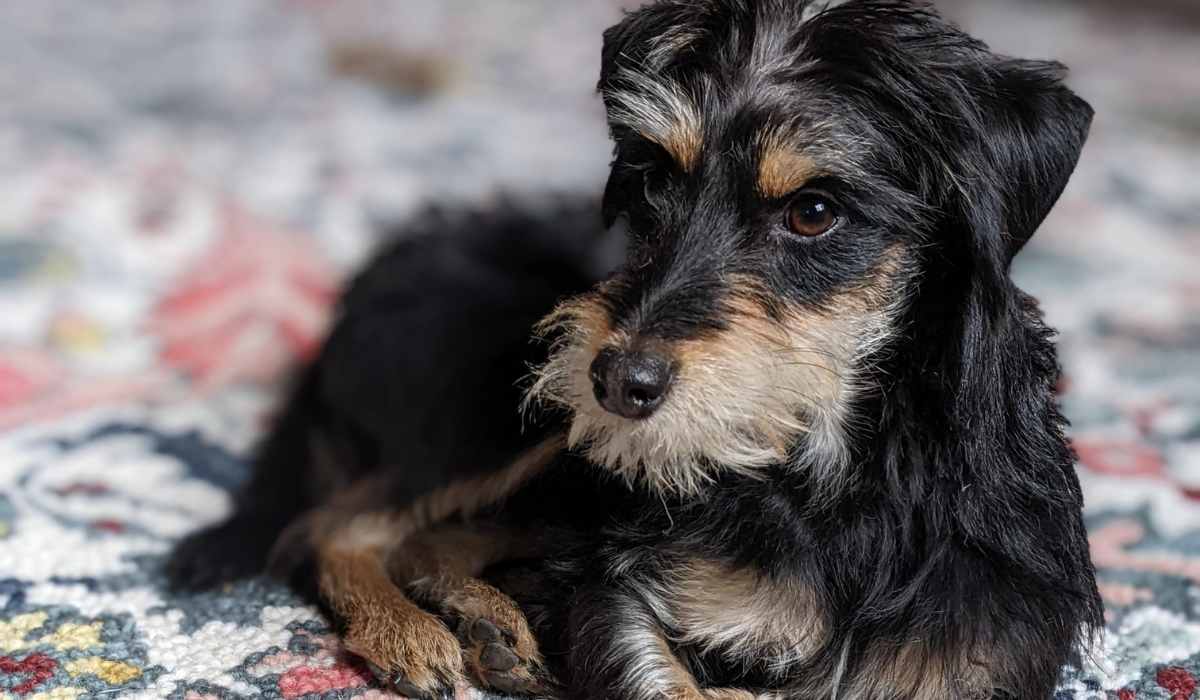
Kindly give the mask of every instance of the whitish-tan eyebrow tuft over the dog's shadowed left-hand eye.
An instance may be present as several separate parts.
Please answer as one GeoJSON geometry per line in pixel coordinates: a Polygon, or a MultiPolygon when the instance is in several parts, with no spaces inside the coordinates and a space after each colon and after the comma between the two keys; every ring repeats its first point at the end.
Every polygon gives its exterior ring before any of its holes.
{"type": "Polygon", "coordinates": [[[696,97],[662,76],[624,70],[622,88],[605,92],[608,121],[626,126],[661,145],[684,172],[692,172],[704,145],[704,125],[696,97]]]}

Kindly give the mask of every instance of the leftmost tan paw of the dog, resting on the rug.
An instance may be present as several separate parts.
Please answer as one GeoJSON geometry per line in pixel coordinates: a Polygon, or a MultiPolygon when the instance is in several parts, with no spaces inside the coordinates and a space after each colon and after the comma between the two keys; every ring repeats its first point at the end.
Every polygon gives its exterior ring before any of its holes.
{"type": "Polygon", "coordinates": [[[376,608],[350,622],[343,644],[377,678],[413,700],[452,698],[462,680],[457,638],[424,610],[376,608]]]}

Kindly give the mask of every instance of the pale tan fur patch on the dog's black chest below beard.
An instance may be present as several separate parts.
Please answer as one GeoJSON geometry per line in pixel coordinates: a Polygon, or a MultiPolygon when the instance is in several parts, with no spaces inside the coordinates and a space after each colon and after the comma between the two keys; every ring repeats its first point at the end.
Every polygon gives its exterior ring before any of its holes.
{"type": "Polygon", "coordinates": [[[780,671],[815,653],[828,622],[798,581],[772,580],[719,562],[691,562],[670,598],[676,641],[780,671]]]}

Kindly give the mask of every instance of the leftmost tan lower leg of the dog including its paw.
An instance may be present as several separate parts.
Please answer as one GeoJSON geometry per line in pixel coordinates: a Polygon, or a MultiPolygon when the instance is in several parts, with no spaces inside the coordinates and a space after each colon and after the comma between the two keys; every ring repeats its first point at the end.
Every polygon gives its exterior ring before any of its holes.
{"type": "Polygon", "coordinates": [[[378,550],[330,546],[318,552],[318,569],[324,598],[346,624],[347,650],[431,693],[458,681],[458,640],[391,584],[378,550]]]}

